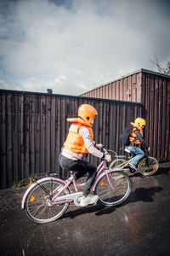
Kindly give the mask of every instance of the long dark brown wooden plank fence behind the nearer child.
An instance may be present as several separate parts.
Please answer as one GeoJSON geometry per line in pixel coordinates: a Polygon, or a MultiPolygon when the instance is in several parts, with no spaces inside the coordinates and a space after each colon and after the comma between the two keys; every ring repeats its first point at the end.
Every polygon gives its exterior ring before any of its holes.
{"type": "MultiPolygon", "coordinates": [[[[0,90],[0,188],[8,188],[33,174],[57,172],[59,152],[78,106],[92,104],[99,112],[94,120],[94,140],[119,151],[119,134],[131,120],[142,114],[135,102],[101,100],[0,90]]],[[[88,156],[94,165],[99,160],[88,156]]]]}

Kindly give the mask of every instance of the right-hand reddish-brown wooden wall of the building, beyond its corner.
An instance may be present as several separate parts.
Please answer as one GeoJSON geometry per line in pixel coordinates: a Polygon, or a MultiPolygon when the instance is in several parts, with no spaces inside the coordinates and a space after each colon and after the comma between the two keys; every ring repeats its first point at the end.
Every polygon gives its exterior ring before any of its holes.
{"type": "Polygon", "coordinates": [[[150,154],[159,161],[170,161],[170,76],[144,72],[141,84],[150,154]]]}

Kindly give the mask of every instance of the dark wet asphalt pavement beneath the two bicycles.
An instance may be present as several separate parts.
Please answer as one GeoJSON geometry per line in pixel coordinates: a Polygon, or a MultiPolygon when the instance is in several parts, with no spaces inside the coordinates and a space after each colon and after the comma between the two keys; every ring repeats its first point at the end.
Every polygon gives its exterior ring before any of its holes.
{"type": "Polygon", "coordinates": [[[170,166],[130,177],[133,191],[122,205],[71,205],[49,224],[34,224],[20,209],[26,188],[0,190],[1,255],[169,255],[170,166]]]}

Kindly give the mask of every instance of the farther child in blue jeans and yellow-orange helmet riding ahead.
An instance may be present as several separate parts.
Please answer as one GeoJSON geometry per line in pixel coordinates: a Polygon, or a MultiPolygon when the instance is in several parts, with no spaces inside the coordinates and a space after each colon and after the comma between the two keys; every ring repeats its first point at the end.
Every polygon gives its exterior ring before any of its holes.
{"type": "Polygon", "coordinates": [[[131,123],[131,125],[133,125],[133,131],[129,136],[130,145],[125,146],[125,149],[130,151],[132,157],[129,166],[132,167],[133,170],[136,170],[139,160],[144,157],[144,151],[139,148],[139,145],[142,145],[146,151],[145,154],[148,154],[148,146],[143,138],[143,129],[146,122],[142,118],[137,118],[134,120],[134,123],[131,123]]]}

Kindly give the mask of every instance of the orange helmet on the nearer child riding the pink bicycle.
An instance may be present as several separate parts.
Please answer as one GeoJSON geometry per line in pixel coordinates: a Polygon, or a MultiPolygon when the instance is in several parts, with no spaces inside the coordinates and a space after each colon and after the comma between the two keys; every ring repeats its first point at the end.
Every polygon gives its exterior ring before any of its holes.
{"type": "Polygon", "coordinates": [[[78,117],[83,119],[87,125],[94,124],[94,116],[98,115],[97,110],[88,104],[83,104],[78,108],[78,117]]]}

